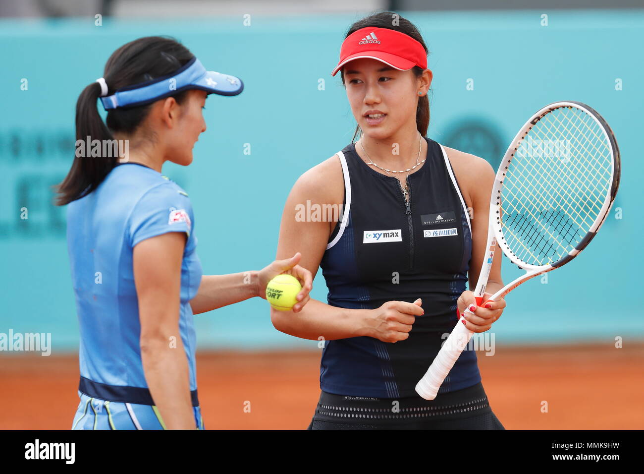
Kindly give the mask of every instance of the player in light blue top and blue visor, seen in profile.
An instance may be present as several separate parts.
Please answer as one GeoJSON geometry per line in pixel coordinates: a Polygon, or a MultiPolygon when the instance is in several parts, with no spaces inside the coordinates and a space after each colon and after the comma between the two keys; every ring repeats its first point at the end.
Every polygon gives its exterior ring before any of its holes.
{"type": "Polygon", "coordinates": [[[165,161],[192,162],[207,95],[242,90],[238,77],[205,70],[175,40],[144,37],[118,48],[79,97],[77,156],[57,190],[57,204],[68,204],[81,328],[75,430],[203,429],[193,314],[265,297],[279,273],[303,284],[294,312],[308,301],[312,276],[299,253],[259,271],[202,277],[190,199],[161,173],[165,161]],[[100,152],[79,153],[90,149],[84,141],[100,152]]]}

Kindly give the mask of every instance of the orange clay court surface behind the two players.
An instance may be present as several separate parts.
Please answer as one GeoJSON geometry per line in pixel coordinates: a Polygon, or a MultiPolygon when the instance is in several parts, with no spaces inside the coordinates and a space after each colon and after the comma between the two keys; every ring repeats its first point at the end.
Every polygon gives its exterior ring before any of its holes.
{"type": "MultiPolygon", "coordinates": [[[[319,396],[317,351],[201,352],[205,428],[307,428],[319,396]],[[250,402],[251,411],[244,411],[250,402]]],[[[644,343],[498,347],[478,353],[483,384],[508,429],[644,428],[644,343]],[[542,401],[548,412],[542,413],[542,401]]],[[[77,355],[0,354],[0,429],[62,429],[77,408],[77,355]]]]}

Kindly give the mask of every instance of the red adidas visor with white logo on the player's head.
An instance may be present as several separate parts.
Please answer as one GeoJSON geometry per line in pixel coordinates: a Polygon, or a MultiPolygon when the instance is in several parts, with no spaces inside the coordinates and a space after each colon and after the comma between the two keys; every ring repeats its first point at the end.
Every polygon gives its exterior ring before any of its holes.
{"type": "Polygon", "coordinates": [[[361,28],[348,35],[340,48],[340,61],[331,75],[349,61],[368,57],[392,68],[406,71],[413,66],[427,68],[427,53],[410,35],[390,28],[361,28]]]}

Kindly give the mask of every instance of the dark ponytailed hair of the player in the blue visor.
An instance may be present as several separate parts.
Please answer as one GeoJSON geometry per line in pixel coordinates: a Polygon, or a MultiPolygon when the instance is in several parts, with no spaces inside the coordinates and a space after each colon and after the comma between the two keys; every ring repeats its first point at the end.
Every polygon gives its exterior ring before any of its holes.
{"type": "MultiPolygon", "coordinates": [[[[135,39],[118,48],[105,64],[103,77],[108,84],[108,95],[120,88],[151,81],[169,75],[190,61],[194,55],[174,38],[147,36],[135,39]]],[[[172,95],[178,103],[188,91],[172,95]]],[[[133,133],[147,117],[152,104],[108,111],[103,123],[97,108],[100,84],[84,88],[76,103],[76,139],[113,140],[113,132],[133,133]]],[[[104,142],[102,142],[104,143],[104,142]]],[[[101,147],[102,148],[102,147],[101,147]]],[[[70,172],[61,184],[55,186],[56,204],[63,206],[95,190],[116,166],[117,157],[74,157],[70,172]]]]}

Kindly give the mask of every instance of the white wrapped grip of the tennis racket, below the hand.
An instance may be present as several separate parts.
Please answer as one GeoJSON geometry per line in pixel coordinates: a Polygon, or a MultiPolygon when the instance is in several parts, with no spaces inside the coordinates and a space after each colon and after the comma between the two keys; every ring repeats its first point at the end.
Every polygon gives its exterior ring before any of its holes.
{"type": "MultiPolygon", "coordinates": [[[[465,311],[466,313],[473,314],[469,310],[465,311]]],[[[436,398],[436,394],[443,380],[448,376],[451,368],[459,359],[460,353],[468,345],[473,335],[473,331],[466,328],[463,321],[464,319],[461,317],[451,331],[450,337],[447,338],[447,341],[440,348],[436,358],[431,362],[427,373],[416,384],[416,392],[425,400],[433,400],[436,398]]]]}

